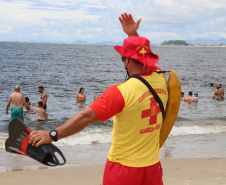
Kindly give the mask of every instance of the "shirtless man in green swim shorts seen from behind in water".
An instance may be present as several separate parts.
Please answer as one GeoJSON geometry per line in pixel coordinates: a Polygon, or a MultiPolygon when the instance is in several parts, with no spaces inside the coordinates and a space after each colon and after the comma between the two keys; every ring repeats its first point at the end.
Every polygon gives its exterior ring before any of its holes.
{"type": "Polygon", "coordinates": [[[14,90],[15,92],[9,95],[9,100],[6,106],[6,115],[8,114],[8,109],[10,107],[10,104],[12,103],[10,121],[12,121],[16,117],[19,117],[24,121],[23,105],[25,105],[28,110],[30,110],[30,107],[26,102],[24,95],[20,93],[20,86],[16,85],[14,87],[14,90]]]}

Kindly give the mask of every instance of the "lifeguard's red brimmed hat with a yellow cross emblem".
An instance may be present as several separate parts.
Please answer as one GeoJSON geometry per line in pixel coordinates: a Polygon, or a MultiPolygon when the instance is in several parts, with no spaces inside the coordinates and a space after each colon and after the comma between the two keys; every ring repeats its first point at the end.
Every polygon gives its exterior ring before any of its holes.
{"type": "Polygon", "coordinates": [[[123,46],[114,48],[121,56],[132,58],[144,66],[153,66],[159,60],[159,56],[150,49],[150,41],[144,37],[129,37],[124,39],[123,46]]]}

